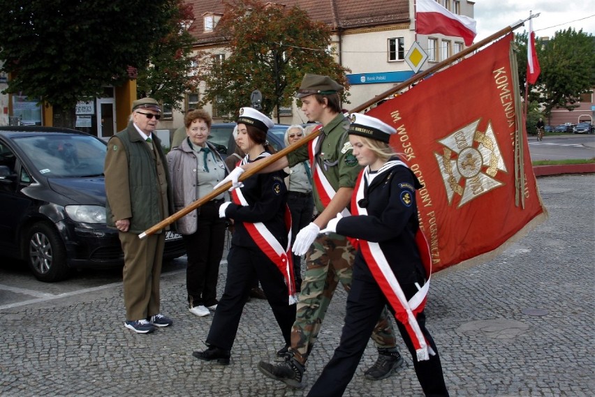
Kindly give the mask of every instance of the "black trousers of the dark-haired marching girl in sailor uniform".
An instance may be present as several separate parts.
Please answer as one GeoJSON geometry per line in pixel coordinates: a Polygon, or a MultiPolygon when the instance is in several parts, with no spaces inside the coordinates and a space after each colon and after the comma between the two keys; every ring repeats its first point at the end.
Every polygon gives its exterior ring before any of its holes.
{"type": "MultiPolygon", "coordinates": [[[[227,257],[227,280],[215,310],[207,345],[231,350],[240,318],[255,277],[267,296],[285,344],[291,343],[295,304],[289,305],[285,278],[277,266],[258,248],[231,246],[227,257]]],[[[263,322],[263,327],[267,324],[263,322]]],[[[246,341],[247,342],[247,341],[246,341]]],[[[281,345],[281,343],[279,343],[281,345]]]]}

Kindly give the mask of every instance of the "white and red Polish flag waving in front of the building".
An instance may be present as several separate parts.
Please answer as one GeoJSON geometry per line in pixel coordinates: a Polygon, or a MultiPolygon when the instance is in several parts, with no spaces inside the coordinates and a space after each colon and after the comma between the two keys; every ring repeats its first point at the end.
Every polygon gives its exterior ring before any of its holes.
{"type": "Polygon", "coordinates": [[[435,0],[417,0],[416,33],[461,37],[465,45],[471,45],[477,30],[470,17],[453,14],[435,0]]]}

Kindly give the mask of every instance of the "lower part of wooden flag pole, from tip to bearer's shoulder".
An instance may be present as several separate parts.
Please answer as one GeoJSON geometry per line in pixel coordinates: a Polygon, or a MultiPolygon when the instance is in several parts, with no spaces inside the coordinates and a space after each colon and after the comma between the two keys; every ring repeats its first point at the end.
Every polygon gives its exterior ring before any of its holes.
{"type": "MultiPolygon", "coordinates": [[[[265,158],[263,160],[256,161],[255,163],[253,163],[254,164],[253,167],[251,167],[249,170],[247,170],[242,175],[240,175],[239,181],[243,181],[244,179],[251,177],[252,175],[256,174],[258,171],[263,170],[263,168],[265,168],[268,165],[279,160],[279,158],[286,156],[287,153],[290,153],[291,151],[298,149],[298,147],[304,146],[304,144],[307,144],[308,142],[313,140],[315,137],[317,137],[321,133],[320,130],[321,130],[320,128],[317,128],[316,130],[309,133],[309,135],[303,137],[301,140],[298,140],[297,142],[294,142],[293,144],[289,145],[288,147],[281,149],[277,153],[274,153],[271,156],[268,156],[267,158],[265,158]]],[[[189,204],[187,207],[180,209],[175,214],[172,214],[172,215],[168,216],[167,218],[161,220],[161,222],[157,223],[156,225],[149,227],[149,229],[145,230],[145,232],[142,232],[141,234],[139,234],[138,238],[144,239],[145,237],[150,236],[151,234],[154,234],[158,230],[163,229],[163,227],[166,227],[167,225],[174,223],[179,218],[182,218],[182,216],[188,214],[191,211],[194,211],[201,205],[206,204],[207,202],[210,202],[211,200],[213,200],[215,197],[217,197],[221,193],[225,193],[225,191],[228,190],[230,187],[231,187],[231,182],[227,182],[226,184],[219,186],[219,188],[214,189],[211,193],[205,195],[204,197],[201,197],[200,199],[196,200],[192,204],[189,204]]]]}

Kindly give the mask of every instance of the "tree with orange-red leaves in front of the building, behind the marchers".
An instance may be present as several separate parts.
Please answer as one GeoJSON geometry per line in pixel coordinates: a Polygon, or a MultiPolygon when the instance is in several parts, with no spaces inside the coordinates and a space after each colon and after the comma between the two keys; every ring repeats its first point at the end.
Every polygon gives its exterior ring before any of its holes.
{"type": "Polygon", "coordinates": [[[233,119],[240,107],[251,105],[251,93],[258,89],[263,95],[260,110],[271,114],[293,104],[304,73],[329,75],[347,87],[349,70],[335,62],[325,24],[314,22],[298,6],[258,0],[224,4],[215,30],[230,56],[220,61],[208,51],[200,53],[200,76],[207,86],[202,105],[213,103],[217,114],[233,119]]]}

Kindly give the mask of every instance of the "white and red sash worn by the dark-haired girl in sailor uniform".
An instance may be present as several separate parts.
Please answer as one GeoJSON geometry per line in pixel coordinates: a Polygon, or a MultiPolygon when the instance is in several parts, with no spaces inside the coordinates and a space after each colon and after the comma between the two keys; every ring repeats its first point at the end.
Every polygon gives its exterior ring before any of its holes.
{"type": "MultiPolygon", "coordinates": [[[[247,157],[242,160],[242,163],[244,163],[246,159],[247,157]]],[[[235,204],[247,207],[248,202],[242,193],[242,188],[232,190],[231,197],[235,204]]],[[[281,246],[277,237],[274,237],[270,230],[267,229],[264,223],[242,223],[258,248],[267,255],[271,262],[277,265],[277,268],[281,271],[281,274],[283,274],[287,285],[287,292],[289,294],[289,304],[293,305],[297,303],[298,296],[295,294],[295,278],[293,275],[293,255],[291,254],[291,212],[289,211],[287,204],[285,205],[285,225],[288,234],[287,247],[285,249],[281,246]]]]}

